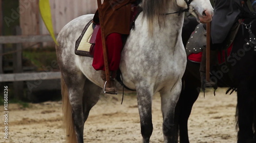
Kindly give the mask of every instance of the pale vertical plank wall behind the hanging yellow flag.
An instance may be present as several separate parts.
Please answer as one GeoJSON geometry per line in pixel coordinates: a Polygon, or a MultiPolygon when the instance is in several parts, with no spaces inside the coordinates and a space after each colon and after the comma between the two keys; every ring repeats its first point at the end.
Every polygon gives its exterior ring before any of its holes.
{"type": "MultiPolygon", "coordinates": [[[[19,0],[20,27],[24,35],[49,34],[39,14],[39,0],[19,0]]],[[[96,0],[50,0],[55,33],[72,19],[95,13],[96,0]]]]}

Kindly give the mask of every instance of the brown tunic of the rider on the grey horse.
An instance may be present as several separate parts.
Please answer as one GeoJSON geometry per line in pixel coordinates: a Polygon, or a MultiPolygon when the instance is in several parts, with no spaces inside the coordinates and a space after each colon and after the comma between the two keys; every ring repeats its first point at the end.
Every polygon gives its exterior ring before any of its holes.
{"type": "MultiPolygon", "coordinates": [[[[130,34],[131,5],[137,0],[104,0],[102,4],[105,36],[111,33],[130,34]]],[[[99,23],[98,10],[93,18],[99,23]]]]}

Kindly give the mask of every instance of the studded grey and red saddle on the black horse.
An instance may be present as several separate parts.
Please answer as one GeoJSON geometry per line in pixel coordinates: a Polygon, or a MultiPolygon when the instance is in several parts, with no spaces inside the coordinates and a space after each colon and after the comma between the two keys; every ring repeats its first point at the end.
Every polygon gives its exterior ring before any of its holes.
{"type": "MultiPolygon", "coordinates": [[[[221,48],[218,49],[218,64],[222,64],[227,60],[232,50],[233,40],[238,33],[240,25],[240,22],[234,23],[221,48]]],[[[200,23],[197,25],[195,31],[191,34],[186,44],[185,50],[188,60],[191,62],[200,63],[203,48],[206,48],[206,26],[205,24],[200,23]]]]}

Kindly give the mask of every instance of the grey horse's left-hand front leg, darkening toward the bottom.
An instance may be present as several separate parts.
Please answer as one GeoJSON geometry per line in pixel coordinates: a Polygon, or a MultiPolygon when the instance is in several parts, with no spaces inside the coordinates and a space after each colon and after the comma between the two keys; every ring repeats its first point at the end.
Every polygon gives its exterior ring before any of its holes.
{"type": "Polygon", "coordinates": [[[137,102],[140,115],[140,128],[143,137],[143,143],[150,142],[150,137],[153,132],[152,124],[152,96],[153,90],[149,88],[137,88],[137,102]]]}

